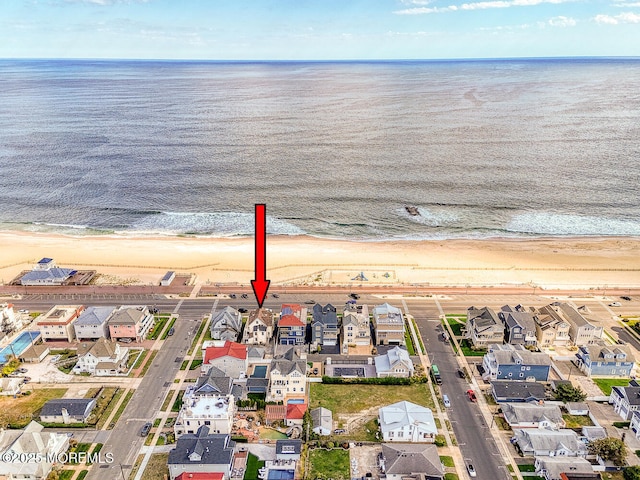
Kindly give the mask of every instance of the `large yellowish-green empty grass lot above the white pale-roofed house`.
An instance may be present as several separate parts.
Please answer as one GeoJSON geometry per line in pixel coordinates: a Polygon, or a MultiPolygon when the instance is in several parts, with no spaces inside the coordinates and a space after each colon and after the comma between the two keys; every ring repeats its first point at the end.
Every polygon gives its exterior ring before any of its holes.
{"type": "MultiPolygon", "coordinates": [[[[309,408],[324,407],[337,413],[359,413],[407,400],[435,409],[425,384],[413,385],[329,385],[311,384],[309,408]]],[[[377,413],[377,412],[376,412],[377,413]]]]}

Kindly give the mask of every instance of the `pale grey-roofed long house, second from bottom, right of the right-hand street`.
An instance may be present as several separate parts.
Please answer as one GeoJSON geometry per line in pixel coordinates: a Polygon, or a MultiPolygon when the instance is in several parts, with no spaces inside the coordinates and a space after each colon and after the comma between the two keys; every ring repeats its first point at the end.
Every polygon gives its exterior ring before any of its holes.
{"type": "Polygon", "coordinates": [[[524,456],[585,457],[587,446],[569,429],[520,428],[513,431],[512,442],[524,456]]]}

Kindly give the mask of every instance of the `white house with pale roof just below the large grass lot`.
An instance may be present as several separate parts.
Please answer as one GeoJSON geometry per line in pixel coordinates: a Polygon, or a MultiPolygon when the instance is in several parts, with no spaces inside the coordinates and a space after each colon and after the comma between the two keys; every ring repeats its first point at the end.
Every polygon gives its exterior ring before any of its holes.
{"type": "Polygon", "coordinates": [[[380,408],[378,423],[385,442],[433,443],[438,434],[431,410],[407,401],[380,408]]]}

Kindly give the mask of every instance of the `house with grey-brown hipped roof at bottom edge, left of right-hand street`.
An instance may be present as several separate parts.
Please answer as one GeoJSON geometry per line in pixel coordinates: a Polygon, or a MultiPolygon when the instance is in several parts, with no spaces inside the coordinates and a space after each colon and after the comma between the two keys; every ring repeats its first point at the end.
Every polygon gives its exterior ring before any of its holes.
{"type": "Polygon", "coordinates": [[[387,480],[442,480],[444,466],[435,445],[382,444],[380,467],[387,480]]]}

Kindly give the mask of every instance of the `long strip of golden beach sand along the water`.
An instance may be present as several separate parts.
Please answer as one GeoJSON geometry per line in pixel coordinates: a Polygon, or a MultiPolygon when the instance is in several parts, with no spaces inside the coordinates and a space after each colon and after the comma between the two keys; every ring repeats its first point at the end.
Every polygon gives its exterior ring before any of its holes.
{"type": "MultiPolygon", "coordinates": [[[[104,283],[155,284],[168,270],[196,283],[249,284],[252,238],[63,236],[0,232],[0,279],[10,282],[42,257],[97,270],[104,283]]],[[[269,236],[267,278],[274,285],[483,286],[546,288],[640,286],[640,239],[348,242],[269,236]],[[355,280],[354,280],[355,278],[355,280]]]]}

